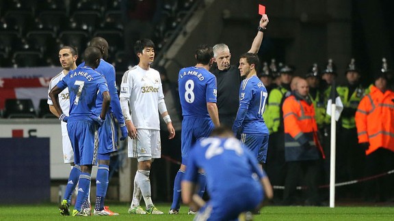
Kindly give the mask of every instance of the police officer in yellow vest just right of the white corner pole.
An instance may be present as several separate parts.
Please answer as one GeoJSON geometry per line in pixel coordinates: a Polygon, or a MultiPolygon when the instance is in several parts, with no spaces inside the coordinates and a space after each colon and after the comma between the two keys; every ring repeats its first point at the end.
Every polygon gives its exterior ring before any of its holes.
{"type": "MultiPolygon", "coordinates": [[[[356,66],[355,59],[351,59],[345,71],[346,83],[337,87],[337,92],[341,97],[343,111],[341,121],[339,121],[339,141],[337,148],[337,178],[338,181],[350,181],[358,179],[363,175],[363,165],[365,153],[358,147],[356,122],[357,106],[360,100],[369,93],[360,83],[360,70],[356,66]],[[346,142],[343,142],[346,141],[346,142]]],[[[349,190],[343,193],[357,194],[357,186],[349,186],[349,190]]],[[[341,194],[343,196],[343,194],[341,194]]]]}

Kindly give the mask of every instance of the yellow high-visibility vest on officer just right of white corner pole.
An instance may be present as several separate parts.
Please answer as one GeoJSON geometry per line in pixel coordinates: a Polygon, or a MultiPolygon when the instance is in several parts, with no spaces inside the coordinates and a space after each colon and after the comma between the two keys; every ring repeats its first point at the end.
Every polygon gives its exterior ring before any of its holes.
{"type": "MultiPolygon", "coordinates": [[[[362,85],[358,85],[358,87],[356,87],[352,94],[349,94],[350,91],[348,86],[337,87],[337,91],[339,93],[339,96],[341,97],[343,108],[354,109],[354,112],[352,113],[356,113],[358,104],[360,104],[360,100],[369,93],[369,89],[365,89],[362,85]]],[[[354,120],[354,116],[342,116],[341,123],[343,128],[356,128],[356,121],[354,120]]]]}

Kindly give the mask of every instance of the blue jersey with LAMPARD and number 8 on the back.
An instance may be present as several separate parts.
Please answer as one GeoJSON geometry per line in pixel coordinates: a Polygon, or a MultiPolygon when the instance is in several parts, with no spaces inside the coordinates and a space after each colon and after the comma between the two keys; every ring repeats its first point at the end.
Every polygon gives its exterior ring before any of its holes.
{"type": "Polygon", "coordinates": [[[216,77],[205,68],[189,67],[179,71],[178,83],[182,115],[209,117],[207,102],[216,103],[216,77]]]}

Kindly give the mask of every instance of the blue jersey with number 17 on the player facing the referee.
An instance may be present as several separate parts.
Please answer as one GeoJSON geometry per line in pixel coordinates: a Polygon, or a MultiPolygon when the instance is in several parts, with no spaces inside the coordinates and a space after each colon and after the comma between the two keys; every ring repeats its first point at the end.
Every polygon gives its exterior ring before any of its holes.
{"type": "Polygon", "coordinates": [[[270,134],[263,119],[267,96],[267,89],[257,76],[242,80],[239,89],[239,108],[233,132],[270,134]]]}

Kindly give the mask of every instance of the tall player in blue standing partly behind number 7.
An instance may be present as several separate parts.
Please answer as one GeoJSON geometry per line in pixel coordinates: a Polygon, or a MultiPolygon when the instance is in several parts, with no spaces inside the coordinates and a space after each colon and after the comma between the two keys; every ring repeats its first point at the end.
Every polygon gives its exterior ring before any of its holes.
{"type": "MultiPolygon", "coordinates": [[[[124,123],[124,117],[122,109],[120,108],[118,89],[116,87],[116,73],[113,65],[105,61],[108,57],[108,42],[104,38],[95,37],[90,40],[89,46],[99,48],[101,51],[101,61],[99,67],[96,68],[96,72],[103,74],[105,80],[107,80],[109,95],[111,96],[111,104],[103,126],[99,128],[99,152],[98,160],[99,167],[97,168],[96,175],[96,203],[94,205],[93,215],[95,216],[118,216],[119,213],[115,213],[109,210],[109,207],[104,205],[105,195],[107,194],[107,188],[109,183],[109,162],[111,153],[116,151],[118,148],[118,130],[115,120],[118,120],[122,137],[120,141],[127,138],[127,128],[124,123]]],[[[79,67],[85,65],[81,63],[79,67]]],[[[103,96],[97,96],[97,106],[101,106],[103,102],[103,96]]],[[[100,113],[101,109],[97,109],[96,113],[100,113]]],[[[90,203],[87,201],[83,202],[83,208],[90,210],[90,203]]]]}

